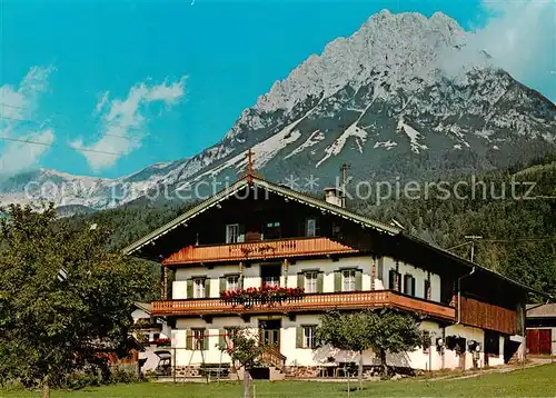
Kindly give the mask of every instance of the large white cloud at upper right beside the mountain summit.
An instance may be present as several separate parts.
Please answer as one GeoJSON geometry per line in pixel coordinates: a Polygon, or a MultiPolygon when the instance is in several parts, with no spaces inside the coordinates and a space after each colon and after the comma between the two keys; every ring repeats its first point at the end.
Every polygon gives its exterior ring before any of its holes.
{"type": "Polygon", "coordinates": [[[492,63],[545,96],[556,99],[556,1],[483,1],[484,27],[467,34],[466,47],[444,61],[448,71],[461,63],[492,63]],[[488,53],[487,60],[481,51],[488,53]]]}

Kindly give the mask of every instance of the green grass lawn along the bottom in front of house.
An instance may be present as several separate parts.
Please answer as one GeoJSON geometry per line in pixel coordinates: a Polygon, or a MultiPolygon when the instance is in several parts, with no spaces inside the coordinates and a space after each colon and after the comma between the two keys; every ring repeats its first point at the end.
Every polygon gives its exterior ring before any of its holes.
{"type": "MultiPolygon", "coordinates": [[[[351,387],[355,384],[351,382],[351,387]]],[[[251,390],[252,391],[252,390],[251,390]]],[[[318,381],[256,381],[256,397],[347,397],[347,384],[318,381]]],[[[39,397],[38,391],[0,389],[1,398],[39,397]]],[[[78,391],[52,391],[52,397],[82,398],[166,398],[166,397],[242,397],[240,382],[160,384],[142,382],[87,388],[78,391]]],[[[252,397],[252,394],[251,394],[252,397]]],[[[400,380],[366,382],[363,391],[350,397],[556,397],[556,364],[508,374],[490,374],[460,380],[400,380]]]]}

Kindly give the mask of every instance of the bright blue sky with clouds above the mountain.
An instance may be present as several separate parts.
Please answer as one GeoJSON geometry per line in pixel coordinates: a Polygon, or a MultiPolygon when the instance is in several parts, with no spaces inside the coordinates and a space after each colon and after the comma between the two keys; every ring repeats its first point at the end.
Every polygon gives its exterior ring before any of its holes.
{"type": "MultiPolygon", "coordinates": [[[[512,27],[512,12],[523,14],[473,0],[76,0],[0,7],[0,136],[50,145],[0,140],[0,173],[46,167],[102,177],[190,157],[217,142],[275,80],[381,9],[443,11],[466,30],[502,24],[485,40],[512,27]]],[[[514,36],[538,34],[538,16],[514,36]]],[[[554,23],[543,29],[554,39],[554,23]]],[[[534,66],[513,59],[522,69],[512,68],[554,100],[554,47],[546,51],[543,61],[528,62],[534,66]]]]}

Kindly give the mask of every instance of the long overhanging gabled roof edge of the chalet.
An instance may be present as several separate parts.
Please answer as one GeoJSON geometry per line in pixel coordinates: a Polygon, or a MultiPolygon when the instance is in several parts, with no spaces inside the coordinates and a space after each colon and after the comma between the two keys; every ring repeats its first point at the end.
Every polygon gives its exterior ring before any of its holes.
{"type": "Polygon", "coordinates": [[[499,279],[503,279],[506,282],[509,282],[514,286],[517,286],[522,289],[529,290],[529,291],[533,291],[537,295],[540,295],[544,297],[549,297],[550,299],[553,299],[553,297],[550,295],[532,289],[528,286],[523,285],[518,281],[515,281],[508,277],[505,277],[496,271],[493,271],[492,269],[488,269],[488,268],[483,267],[480,265],[477,265],[475,262],[470,262],[469,260],[467,260],[463,257],[459,257],[450,251],[447,251],[443,248],[434,246],[434,245],[431,245],[431,243],[429,243],[420,238],[417,238],[410,233],[404,232],[404,230],[398,228],[398,227],[389,226],[389,225],[386,225],[384,222],[380,222],[380,221],[370,219],[368,217],[358,215],[356,212],[349,211],[349,210],[341,208],[339,206],[336,206],[336,205],[329,203],[327,201],[317,199],[317,198],[311,197],[311,196],[306,195],[306,193],[298,192],[298,191],[290,189],[286,186],[276,185],[274,182],[264,180],[262,178],[255,176],[255,175],[245,176],[240,180],[238,180],[235,183],[232,183],[231,186],[222,189],[221,191],[211,196],[207,200],[200,202],[197,206],[193,206],[191,209],[187,210],[181,216],[175,218],[173,220],[169,221],[168,223],[163,225],[162,227],[157,228],[156,230],[153,230],[149,235],[147,235],[147,236],[142,237],[141,239],[135,241],[133,243],[129,245],[128,247],[126,247],[122,250],[122,252],[125,255],[132,255],[133,252],[140,250],[146,245],[153,243],[160,237],[165,236],[166,233],[178,228],[179,226],[186,223],[188,220],[201,215],[206,210],[220,203],[222,200],[230,198],[231,196],[236,195],[237,192],[239,192],[242,189],[248,188],[248,187],[249,188],[250,187],[254,187],[254,188],[260,187],[269,192],[274,192],[274,193],[282,196],[285,198],[296,200],[300,203],[318,208],[321,211],[327,211],[331,215],[348,219],[353,222],[359,223],[361,227],[371,228],[371,229],[375,229],[375,230],[383,232],[383,233],[387,233],[390,236],[398,236],[401,239],[410,240],[410,241],[418,243],[420,246],[424,246],[424,247],[428,248],[429,250],[435,251],[435,252],[437,252],[437,253],[439,253],[439,255],[441,255],[441,256],[444,256],[453,261],[456,261],[457,263],[459,263],[464,267],[469,268],[469,270],[473,268],[479,269],[486,273],[493,275],[493,276],[495,276],[499,279]]]}

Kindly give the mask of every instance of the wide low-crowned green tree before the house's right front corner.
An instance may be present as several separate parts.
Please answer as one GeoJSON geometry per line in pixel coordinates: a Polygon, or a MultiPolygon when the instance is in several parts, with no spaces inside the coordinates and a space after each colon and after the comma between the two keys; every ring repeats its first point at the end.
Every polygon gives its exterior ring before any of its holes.
{"type": "Polygon", "coordinates": [[[415,349],[421,342],[417,320],[393,309],[360,312],[330,311],[320,319],[317,328],[319,345],[359,354],[358,379],[363,387],[363,354],[368,349],[378,352],[383,374],[387,374],[386,352],[393,354],[415,349]]]}

